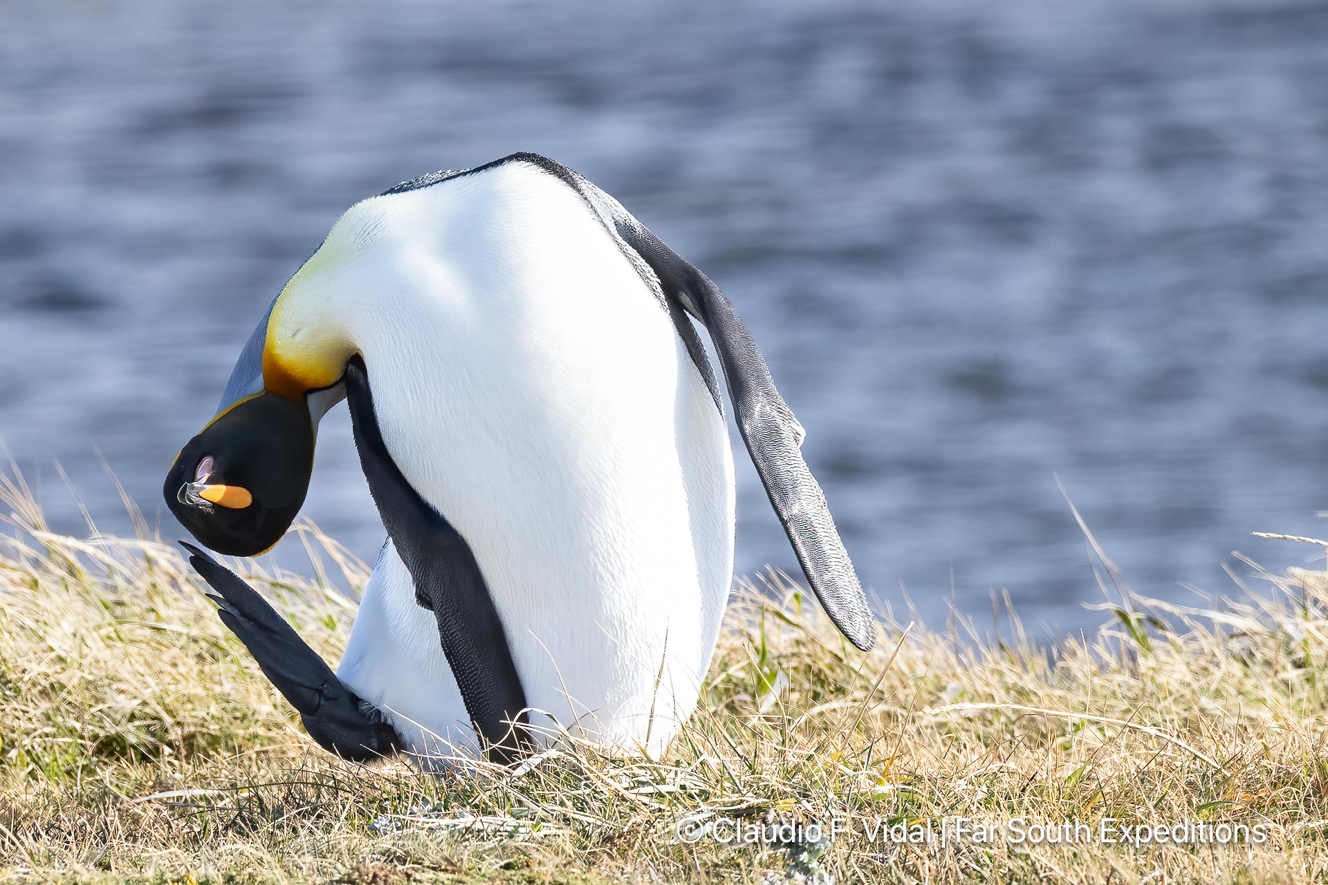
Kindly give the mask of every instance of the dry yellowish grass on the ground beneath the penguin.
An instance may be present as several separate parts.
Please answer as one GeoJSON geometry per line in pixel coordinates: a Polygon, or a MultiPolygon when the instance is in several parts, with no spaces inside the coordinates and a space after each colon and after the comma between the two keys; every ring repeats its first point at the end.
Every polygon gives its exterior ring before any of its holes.
{"type": "MultiPolygon", "coordinates": [[[[1017,626],[980,641],[961,624],[886,622],[869,655],[797,593],[748,594],[701,713],[664,759],[567,747],[517,772],[440,778],[315,747],[171,547],[54,536],[21,490],[7,498],[0,881],[1328,878],[1328,582],[1315,575],[1216,622],[1153,605],[1169,628],[1106,613],[1098,633],[1054,647],[1017,626]],[[688,816],[841,817],[850,832],[807,852],[684,844],[688,816]],[[1189,819],[1268,837],[898,845],[865,832],[944,816],[1189,819]]],[[[324,556],[363,581],[335,547],[324,556]]],[[[351,605],[317,582],[255,582],[336,658],[351,605]]]]}

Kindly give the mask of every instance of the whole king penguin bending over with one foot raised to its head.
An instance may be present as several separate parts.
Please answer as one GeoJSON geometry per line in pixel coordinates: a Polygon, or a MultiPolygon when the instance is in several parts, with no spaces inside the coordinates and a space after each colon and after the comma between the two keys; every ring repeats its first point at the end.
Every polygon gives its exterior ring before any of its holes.
{"type": "Polygon", "coordinates": [[[507,762],[574,735],[660,752],[729,596],[736,425],[822,606],[876,626],[803,430],[720,289],[537,154],[348,210],[272,301],[165,483],[203,545],[254,556],[299,512],[340,399],[388,539],[337,670],[186,544],[219,614],[348,759],[507,762]]]}

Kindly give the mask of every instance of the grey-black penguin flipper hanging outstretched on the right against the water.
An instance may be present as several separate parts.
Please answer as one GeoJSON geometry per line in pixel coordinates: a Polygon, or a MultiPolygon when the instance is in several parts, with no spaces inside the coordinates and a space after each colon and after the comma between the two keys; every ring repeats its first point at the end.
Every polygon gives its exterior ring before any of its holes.
{"type": "Polygon", "coordinates": [[[709,332],[742,442],[807,582],[834,625],[855,646],[870,650],[876,641],[876,626],[867,596],[830,516],[825,492],[802,459],[802,425],[776,389],[752,333],[720,288],[640,222],[625,211],[614,212],[614,227],[655,272],[665,299],[680,304],[709,332]]]}

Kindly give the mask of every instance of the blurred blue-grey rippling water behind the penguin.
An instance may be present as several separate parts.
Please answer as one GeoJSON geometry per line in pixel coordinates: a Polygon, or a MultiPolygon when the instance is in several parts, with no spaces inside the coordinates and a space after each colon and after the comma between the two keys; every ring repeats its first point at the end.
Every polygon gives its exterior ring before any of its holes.
{"type": "MultiPolygon", "coordinates": [[[[713,276],[863,579],[1097,622],[1323,533],[1328,8],[7,4],[0,438],[57,528],[163,472],[352,202],[534,150],[713,276]]],[[[329,417],[307,513],[381,528],[329,417]]],[[[750,470],[738,568],[793,567],[750,470]]],[[[278,556],[297,564],[297,544],[278,556]]],[[[1239,567],[1244,571],[1244,567],[1239,567]]]]}

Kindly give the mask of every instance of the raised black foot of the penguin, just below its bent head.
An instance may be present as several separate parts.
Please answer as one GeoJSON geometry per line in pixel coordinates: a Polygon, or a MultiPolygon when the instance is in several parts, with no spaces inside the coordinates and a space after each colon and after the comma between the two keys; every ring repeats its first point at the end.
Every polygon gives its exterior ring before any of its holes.
{"type": "Polygon", "coordinates": [[[212,588],[222,622],[240,638],[263,674],[300,714],[320,747],[352,762],[372,762],[401,750],[396,730],[328,667],[267,600],[199,548],[181,541],[189,564],[212,588]]]}

